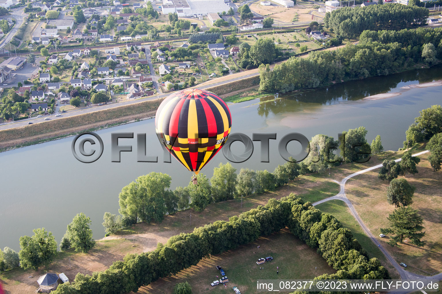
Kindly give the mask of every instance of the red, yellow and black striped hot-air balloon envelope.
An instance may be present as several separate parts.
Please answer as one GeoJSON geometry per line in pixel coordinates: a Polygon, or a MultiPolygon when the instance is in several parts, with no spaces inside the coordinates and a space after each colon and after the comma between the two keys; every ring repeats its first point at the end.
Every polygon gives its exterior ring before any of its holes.
{"type": "Polygon", "coordinates": [[[200,89],[169,95],[155,116],[161,144],[195,174],[221,150],[231,127],[227,104],[216,94],[200,89]]]}

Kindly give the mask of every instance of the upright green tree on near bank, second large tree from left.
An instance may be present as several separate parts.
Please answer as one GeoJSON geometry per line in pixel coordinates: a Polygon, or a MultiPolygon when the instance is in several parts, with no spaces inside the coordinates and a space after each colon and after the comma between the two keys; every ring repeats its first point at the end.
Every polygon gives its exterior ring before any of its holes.
{"type": "Polygon", "coordinates": [[[91,219],[83,212],[78,213],[68,225],[69,242],[75,251],[88,253],[95,246],[95,240],[92,238],[92,230],[89,227],[91,219]]]}

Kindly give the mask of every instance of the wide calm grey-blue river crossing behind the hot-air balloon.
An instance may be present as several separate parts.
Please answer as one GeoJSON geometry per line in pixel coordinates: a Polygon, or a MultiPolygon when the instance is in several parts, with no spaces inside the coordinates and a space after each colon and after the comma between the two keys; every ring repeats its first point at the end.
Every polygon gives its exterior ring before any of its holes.
{"type": "MultiPolygon", "coordinates": [[[[442,67],[408,71],[389,76],[367,78],[337,85],[263,97],[247,102],[229,104],[232,133],[277,133],[270,140],[270,163],[260,162],[259,142],[255,152],[242,164],[255,170],[282,164],[278,142],[287,133],[298,132],[311,138],[327,134],[335,139],[343,130],[364,126],[371,143],[381,135],[385,150],[402,147],[405,130],[419,111],[442,102],[442,86],[415,87],[442,79],[442,67]],[[404,89],[406,88],[406,89],[404,89]],[[364,99],[381,93],[400,93],[387,99],[364,99]]],[[[57,242],[76,213],[91,217],[94,238],[104,236],[104,212],[118,213],[118,193],[122,187],[151,171],[171,175],[171,188],[187,185],[192,173],[174,158],[163,163],[163,153],[155,134],[154,120],[148,119],[96,132],[103,139],[104,152],[99,160],[84,164],[72,155],[72,137],[32,145],[0,153],[2,167],[0,188],[0,248],[19,250],[19,237],[31,235],[32,229],[45,227],[57,242]],[[158,163],[137,162],[137,142],[120,139],[119,145],[133,145],[133,152],[123,152],[120,163],[110,160],[110,134],[114,132],[147,133],[147,154],[158,156],[158,163]]],[[[288,145],[291,153],[300,150],[296,142],[288,145]]],[[[244,150],[239,142],[232,150],[244,150]]],[[[238,151],[239,152],[239,151],[238,151]]],[[[211,177],[213,167],[227,162],[218,153],[203,172],[211,177]]],[[[367,163],[370,166],[370,161],[367,163]]]]}

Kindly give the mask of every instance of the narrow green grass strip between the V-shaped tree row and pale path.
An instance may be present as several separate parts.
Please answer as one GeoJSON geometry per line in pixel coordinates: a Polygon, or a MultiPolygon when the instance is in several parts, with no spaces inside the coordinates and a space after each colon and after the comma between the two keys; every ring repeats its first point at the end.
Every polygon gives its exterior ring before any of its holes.
{"type": "Polygon", "coordinates": [[[362,247],[367,250],[370,258],[376,257],[381,261],[381,264],[388,269],[390,276],[392,279],[400,279],[399,273],[396,271],[396,268],[392,266],[384,257],[381,250],[377,248],[377,246],[368,238],[368,236],[362,231],[362,228],[359,226],[358,222],[351,215],[350,210],[347,205],[340,200],[330,200],[328,202],[321,203],[315,206],[320,211],[331,214],[335,216],[341,222],[343,227],[349,229],[354,237],[356,237],[361,243],[362,247]]]}

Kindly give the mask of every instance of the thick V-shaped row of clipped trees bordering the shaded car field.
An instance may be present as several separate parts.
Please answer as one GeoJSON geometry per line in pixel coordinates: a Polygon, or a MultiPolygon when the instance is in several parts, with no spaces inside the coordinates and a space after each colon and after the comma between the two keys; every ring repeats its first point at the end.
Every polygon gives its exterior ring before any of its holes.
{"type": "Polygon", "coordinates": [[[175,235],[165,245],[158,243],[153,251],[128,254],[103,272],[78,273],[72,284],[60,285],[53,294],[136,292],[143,285],[198,264],[202,257],[236,249],[286,226],[338,270],[336,274],[321,275],[321,279],[389,279],[387,270],[376,258],[368,260],[358,240],[334,216],[290,194],[232,216],[228,222],[219,220],[192,233],[175,235]]]}

